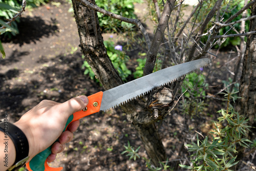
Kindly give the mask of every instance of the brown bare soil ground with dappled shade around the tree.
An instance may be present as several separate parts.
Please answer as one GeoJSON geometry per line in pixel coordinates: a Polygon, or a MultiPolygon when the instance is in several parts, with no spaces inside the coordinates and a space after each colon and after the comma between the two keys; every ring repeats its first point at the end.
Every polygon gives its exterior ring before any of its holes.
{"type": "MultiPolygon", "coordinates": [[[[27,10],[20,18],[20,34],[3,40],[7,57],[0,59],[1,117],[8,114],[9,120],[15,122],[43,99],[64,102],[102,90],[88,75],[83,75],[79,37],[75,19],[68,12],[70,7],[67,1],[59,0],[27,10]]],[[[142,9],[145,7],[138,5],[136,11],[143,12],[142,9]]],[[[148,29],[154,28],[148,25],[148,29]]],[[[108,36],[103,35],[104,39],[108,36]]],[[[137,65],[134,62],[136,52],[127,53],[133,64],[131,70],[137,65]]],[[[220,53],[219,58],[209,56],[213,64],[204,70],[209,86],[212,86],[207,90],[208,95],[219,92],[223,89],[222,81],[232,78],[236,56],[236,53],[228,52],[220,53]]],[[[208,98],[206,102],[210,105],[206,112],[209,115],[195,117],[189,127],[191,130],[193,126],[200,127],[204,135],[211,129],[210,120],[216,119],[216,112],[225,105],[216,98],[208,98]]],[[[196,135],[184,127],[184,115],[178,109],[179,106],[161,124],[157,123],[167,157],[173,163],[170,165],[175,170],[181,170],[177,164],[185,163],[189,156],[184,142],[195,140],[196,135]]],[[[49,165],[62,166],[63,170],[147,170],[143,158],[133,161],[121,155],[123,145],[130,141],[135,148],[141,146],[139,154],[147,157],[136,131],[120,109],[90,115],[82,118],[80,123],[73,141],[49,165]]],[[[253,162],[252,159],[248,155],[244,161],[253,162]]]]}

